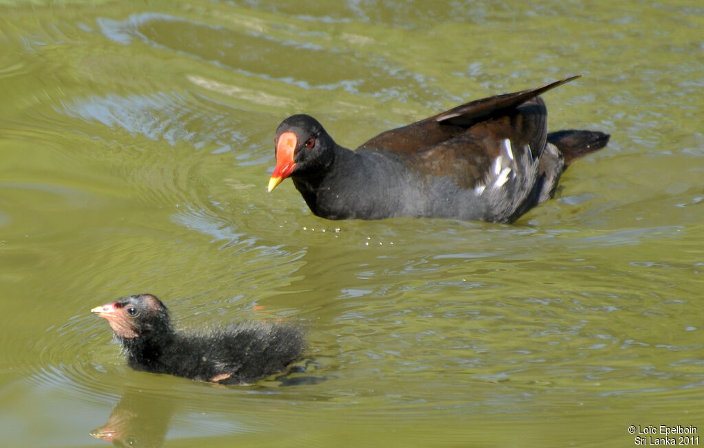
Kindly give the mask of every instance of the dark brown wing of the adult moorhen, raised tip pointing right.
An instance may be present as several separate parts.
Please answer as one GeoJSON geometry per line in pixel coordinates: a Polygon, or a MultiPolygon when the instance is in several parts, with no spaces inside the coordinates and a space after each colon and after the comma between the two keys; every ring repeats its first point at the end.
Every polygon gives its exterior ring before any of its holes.
{"type": "Polygon", "coordinates": [[[529,148],[533,158],[540,157],[546,145],[547,110],[538,95],[577,77],[459,105],[383,132],[358,150],[396,153],[420,172],[470,188],[484,181],[506,139],[515,153],[529,148]]]}

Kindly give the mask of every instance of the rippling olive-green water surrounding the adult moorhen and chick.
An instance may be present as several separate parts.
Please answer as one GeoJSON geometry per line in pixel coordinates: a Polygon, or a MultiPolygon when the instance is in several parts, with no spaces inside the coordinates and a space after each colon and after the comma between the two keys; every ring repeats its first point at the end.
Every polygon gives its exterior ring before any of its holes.
{"type": "Polygon", "coordinates": [[[703,35],[696,1],[1,2],[2,444],[704,431],[703,35]],[[292,113],[354,148],[577,73],[550,129],[612,140],[512,226],[328,222],[291,181],[266,193],[292,113]],[[182,326],[299,322],[325,380],[131,371],[89,309],[142,292],[182,326]]]}

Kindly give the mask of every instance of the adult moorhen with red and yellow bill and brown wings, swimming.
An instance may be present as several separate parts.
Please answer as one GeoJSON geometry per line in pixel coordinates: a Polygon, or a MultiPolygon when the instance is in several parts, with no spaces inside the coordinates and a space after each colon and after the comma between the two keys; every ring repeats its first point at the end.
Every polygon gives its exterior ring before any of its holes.
{"type": "Polygon", "coordinates": [[[555,193],[575,159],[603,148],[603,132],[548,134],[545,91],[581,75],[491,96],[391,129],[350,151],[315,118],[276,132],[272,191],[291,177],[327,219],[445,217],[510,223],[555,193]]]}

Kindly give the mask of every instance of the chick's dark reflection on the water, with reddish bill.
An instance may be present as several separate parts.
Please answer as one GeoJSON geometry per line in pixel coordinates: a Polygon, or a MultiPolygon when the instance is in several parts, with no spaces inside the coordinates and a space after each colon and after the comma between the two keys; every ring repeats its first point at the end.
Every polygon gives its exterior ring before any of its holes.
{"type": "Polygon", "coordinates": [[[115,447],[161,447],[175,403],[171,397],[127,389],[108,423],[90,432],[115,447]]]}

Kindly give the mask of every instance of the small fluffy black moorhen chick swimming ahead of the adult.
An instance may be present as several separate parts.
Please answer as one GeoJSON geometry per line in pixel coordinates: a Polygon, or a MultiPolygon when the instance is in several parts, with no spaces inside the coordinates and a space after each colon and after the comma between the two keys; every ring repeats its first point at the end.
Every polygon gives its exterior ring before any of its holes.
{"type": "Polygon", "coordinates": [[[210,333],[175,331],[168,309],[151,294],[91,309],[107,319],[132,369],[218,384],[251,384],[284,371],[305,346],[301,328],[251,323],[210,333]]]}

